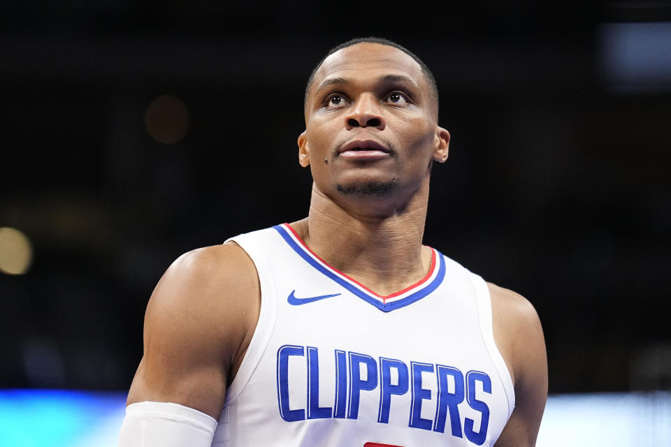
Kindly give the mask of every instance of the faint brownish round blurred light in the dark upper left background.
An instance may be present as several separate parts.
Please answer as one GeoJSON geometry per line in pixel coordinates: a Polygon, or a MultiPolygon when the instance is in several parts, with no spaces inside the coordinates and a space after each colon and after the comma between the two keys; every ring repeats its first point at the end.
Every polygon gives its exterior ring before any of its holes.
{"type": "Polygon", "coordinates": [[[158,142],[166,145],[179,142],[189,130],[187,105],[176,96],[154,98],[145,112],[145,128],[158,142]]]}

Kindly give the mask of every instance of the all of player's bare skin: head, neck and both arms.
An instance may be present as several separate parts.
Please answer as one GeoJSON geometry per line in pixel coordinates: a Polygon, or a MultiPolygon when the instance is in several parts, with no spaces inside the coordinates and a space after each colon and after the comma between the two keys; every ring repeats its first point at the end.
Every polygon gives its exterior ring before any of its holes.
{"type": "MultiPolygon", "coordinates": [[[[387,45],[331,54],[310,88],[298,161],[314,183],[308,217],[291,226],[329,265],[380,295],[416,283],[431,263],[421,244],[429,177],[449,145],[437,115],[419,64],[387,45]]],[[[542,328],[525,298],[488,285],[516,395],[496,446],[534,446],[547,398],[542,328]]],[[[257,272],[238,245],[180,256],[147,305],[127,403],[175,402],[219,418],[259,309],[257,272]]]]}

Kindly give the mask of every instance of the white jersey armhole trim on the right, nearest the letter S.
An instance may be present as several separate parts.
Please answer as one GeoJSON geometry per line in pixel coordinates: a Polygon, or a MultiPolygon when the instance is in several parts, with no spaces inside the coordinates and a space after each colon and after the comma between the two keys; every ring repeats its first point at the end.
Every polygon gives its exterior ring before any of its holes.
{"type": "Polygon", "coordinates": [[[508,418],[510,418],[512,411],[515,408],[515,389],[512,383],[512,378],[510,377],[510,371],[508,371],[508,367],[505,365],[505,360],[503,360],[503,356],[498,350],[496,340],[494,339],[489,288],[484,279],[475,273],[470,273],[470,283],[473,287],[473,292],[475,293],[475,302],[477,303],[477,314],[480,330],[482,331],[482,339],[484,340],[487,353],[489,353],[489,358],[491,358],[494,367],[496,367],[499,379],[503,384],[503,390],[505,391],[505,397],[508,402],[508,418]]]}

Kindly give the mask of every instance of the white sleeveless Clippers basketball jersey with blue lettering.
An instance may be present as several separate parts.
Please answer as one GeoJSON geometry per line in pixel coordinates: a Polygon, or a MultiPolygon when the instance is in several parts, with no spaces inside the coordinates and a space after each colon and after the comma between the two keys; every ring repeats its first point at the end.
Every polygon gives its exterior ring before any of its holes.
{"type": "Polygon", "coordinates": [[[514,391],[482,278],[431,249],[426,277],[383,297],[287,224],[232,240],[261,313],[212,446],[493,446],[514,391]]]}

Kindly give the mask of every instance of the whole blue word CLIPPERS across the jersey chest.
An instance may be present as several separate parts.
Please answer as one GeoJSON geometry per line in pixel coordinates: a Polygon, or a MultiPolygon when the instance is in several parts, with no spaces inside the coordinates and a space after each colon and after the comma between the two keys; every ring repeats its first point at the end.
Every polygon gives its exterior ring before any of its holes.
{"type": "MultiPolygon", "coordinates": [[[[324,383],[320,383],[320,379],[324,379],[324,376],[323,374],[322,377],[319,376],[319,349],[314,346],[285,344],[277,350],[277,405],[283,420],[295,422],[331,417],[358,419],[361,392],[373,391],[379,384],[378,423],[389,423],[392,416],[392,396],[406,395],[410,390],[409,427],[433,430],[433,432],[438,433],[450,433],[453,437],[466,438],[477,446],[485,444],[491,410],[486,403],[487,399],[482,399],[486,397],[483,393],[491,395],[492,390],[491,379],[485,372],[471,370],[467,374],[463,374],[456,367],[447,365],[423,362],[410,362],[410,365],[407,365],[403,360],[395,358],[380,357],[375,359],[363,353],[340,349],[335,349],[334,353],[335,389],[328,390],[329,394],[335,394],[333,402],[323,402],[324,391],[326,390],[322,389],[321,393],[322,403],[333,403],[333,408],[331,408],[328,405],[319,405],[320,386],[324,388],[324,383]],[[299,356],[304,359],[296,358],[299,356]],[[294,360],[291,360],[291,358],[294,358],[294,360]],[[308,372],[307,389],[301,385],[303,360],[306,361],[308,372]],[[295,362],[300,362],[300,364],[296,365],[295,362]],[[298,371],[291,370],[293,372],[291,375],[289,374],[289,363],[292,364],[292,368],[298,367],[298,371]],[[297,376],[297,374],[300,375],[297,376]],[[425,375],[422,376],[422,374],[425,375]],[[426,374],[431,374],[431,376],[426,374]],[[433,385],[433,374],[435,374],[437,386],[433,385]],[[423,380],[424,377],[427,381],[423,380]],[[290,390],[289,382],[291,380],[295,380],[297,383],[291,383],[292,388],[290,390]],[[298,388],[296,388],[297,386],[298,388]],[[438,395],[436,395],[433,418],[422,418],[423,401],[431,400],[434,391],[437,391],[438,395]],[[304,406],[296,403],[297,397],[301,394],[306,396],[304,406]],[[464,408],[468,408],[464,401],[468,402],[468,407],[475,412],[475,416],[473,416],[474,413],[470,412],[466,413],[465,418],[462,418],[464,408]],[[291,403],[298,408],[291,409],[291,403]],[[479,416],[477,416],[477,413],[479,413],[479,416]],[[472,416],[472,418],[468,416],[472,416]],[[448,418],[449,429],[447,428],[448,418]],[[476,426],[478,427],[477,431],[475,430],[476,426]]],[[[331,380],[327,382],[331,383],[331,380]]],[[[398,397],[394,399],[398,399],[398,397]]],[[[405,408],[407,409],[407,406],[405,408]]],[[[425,409],[424,413],[428,413],[428,409],[425,409]]]]}

